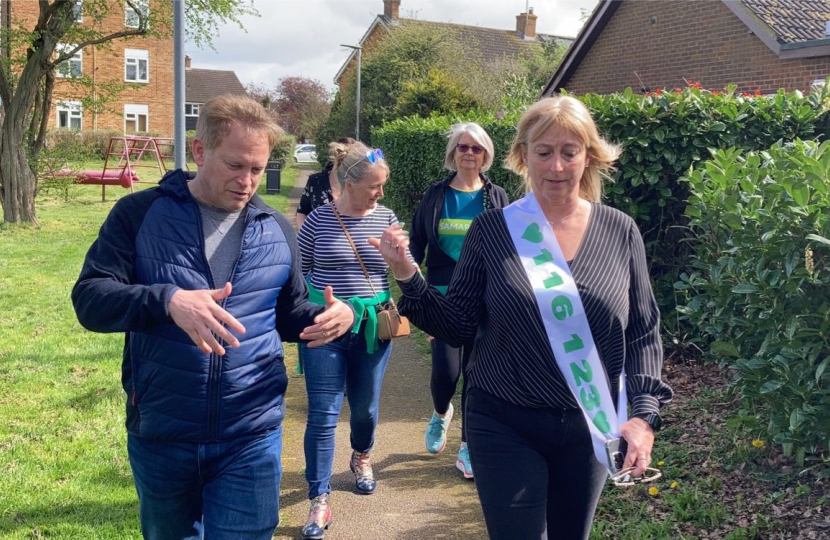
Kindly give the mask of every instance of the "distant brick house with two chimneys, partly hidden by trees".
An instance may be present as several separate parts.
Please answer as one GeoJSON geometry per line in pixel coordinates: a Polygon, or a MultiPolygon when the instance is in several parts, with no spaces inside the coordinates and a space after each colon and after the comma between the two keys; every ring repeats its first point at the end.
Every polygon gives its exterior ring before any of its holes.
{"type": "MultiPolygon", "coordinates": [[[[533,14],[532,8],[528,10],[528,13],[516,16],[514,30],[401,18],[400,8],[401,0],[383,0],[383,15],[375,17],[358,43],[363,49],[364,59],[367,54],[372,53],[381,40],[401,25],[420,25],[424,28],[437,27],[451,30],[461,44],[459,50],[474,56],[470,60],[473,61],[471,65],[477,66],[476,69],[486,68],[489,62],[497,65],[505,57],[516,58],[524,54],[528,47],[539,47],[545,42],[555,41],[566,47],[573,42],[572,37],[537,33],[538,17],[533,14]]],[[[352,51],[334,77],[334,83],[341,89],[341,95],[343,95],[342,90],[354,78],[356,68],[357,51],[352,51]]]]}

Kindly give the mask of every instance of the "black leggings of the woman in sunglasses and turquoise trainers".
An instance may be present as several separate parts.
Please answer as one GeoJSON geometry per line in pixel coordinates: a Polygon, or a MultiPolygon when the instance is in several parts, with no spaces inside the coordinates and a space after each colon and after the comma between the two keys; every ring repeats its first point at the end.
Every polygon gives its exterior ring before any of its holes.
{"type": "MultiPolygon", "coordinates": [[[[429,389],[435,412],[444,414],[450,408],[450,400],[455,395],[458,378],[467,370],[472,345],[450,347],[438,338],[430,343],[432,348],[432,378],[429,389]]],[[[467,442],[467,430],[464,421],[464,405],[467,401],[467,377],[461,385],[461,442],[467,442]]]]}

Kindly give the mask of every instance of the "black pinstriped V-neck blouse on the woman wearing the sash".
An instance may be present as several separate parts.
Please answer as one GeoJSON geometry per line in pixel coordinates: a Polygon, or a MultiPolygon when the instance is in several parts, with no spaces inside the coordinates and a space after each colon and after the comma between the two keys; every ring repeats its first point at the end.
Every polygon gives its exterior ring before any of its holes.
{"type": "MultiPolygon", "coordinates": [[[[593,204],[570,263],[614,403],[625,365],[632,415],[657,412],[672,390],[660,378],[660,312],[634,221],[593,204]]],[[[469,384],[525,407],[578,407],[553,357],[536,299],[502,210],[473,221],[447,296],[420,274],[401,283],[399,310],[452,346],[475,337],[469,384]]]]}

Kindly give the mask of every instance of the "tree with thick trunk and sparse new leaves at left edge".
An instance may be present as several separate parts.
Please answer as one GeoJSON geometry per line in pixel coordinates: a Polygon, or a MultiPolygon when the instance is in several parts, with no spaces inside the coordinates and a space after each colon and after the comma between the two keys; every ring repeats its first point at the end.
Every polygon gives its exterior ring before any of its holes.
{"type": "MultiPolygon", "coordinates": [[[[9,13],[11,0],[0,0],[3,13],[9,13]]],[[[38,18],[31,27],[15,20],[0,28],[0,199],[6,222],[37,223],[35,193],[36,163],[43,149],[52,107],[56,70],[78,51],[89,46],[107,46],[115,40],[140,36],[168,37],[172,32],[172,2],[125,0],[136,14],[135,28],[107,33],[100,22],[111,11],[111,0],[84,0],[84,24],[75,22],[75,0],[40,0],[38,18]],[[149,9],[148,9],[149,6],[149,9]],[[59,43],[74,43],[59,48],[59,43]]],[[[12,11],[12,14],[14,12],[12,11]]],[[[257,14],[252,0],[199,0],[187,2],[189,37],[200,45],[212,46],[212,36],[221,24],[257,14]]],[[[75,85],[91,86],[83,76],[75,85]]],[[[117,92],[120,83],[98,83],[96,92],[107,96],[117,92]],[[110,86],[107,86],[110,84],[110,86]]],[[[91,100],[90,100],[91,101],[91,100]]],[[[91,103],[101,106],[102,102],[91,103]]]]}

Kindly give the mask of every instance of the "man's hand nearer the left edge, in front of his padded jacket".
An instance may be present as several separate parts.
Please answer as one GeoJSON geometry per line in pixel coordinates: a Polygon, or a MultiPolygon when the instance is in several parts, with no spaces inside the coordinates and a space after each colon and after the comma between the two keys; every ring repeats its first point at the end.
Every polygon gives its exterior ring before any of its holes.
{"type": "Polygon", "coordinates": [[[234,330],[245,333],[245,327],[230,313],[219,307],[218,302],[231,295],[231,284],[221,289],[186,291],[179,289],[170,297],[168,310],[173,322],[187,332],[193,343],[203,352],[225,354],[225,348],[217,341],[222,339],[231,347],[239,347],[239,340],[231,334],[234,330]],[[225,328],[223,324],[227,325],[225,328]],[[230,329],[230,330],[229,330],[230,329]]]}

